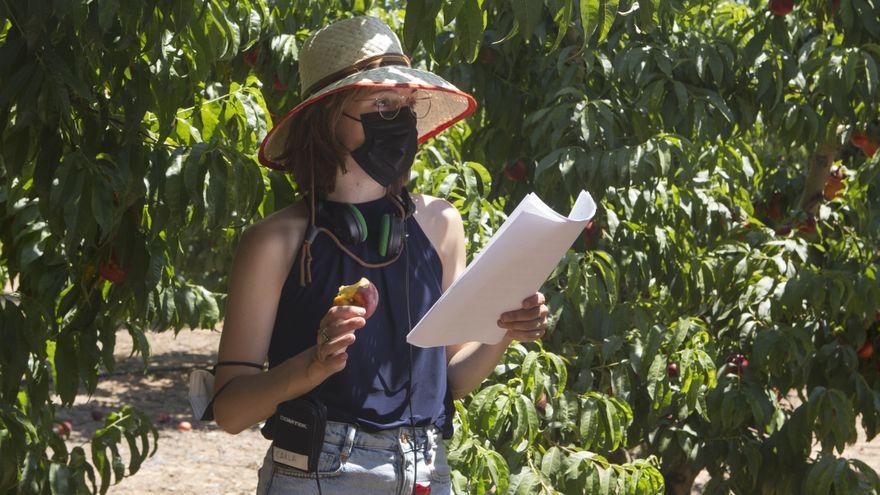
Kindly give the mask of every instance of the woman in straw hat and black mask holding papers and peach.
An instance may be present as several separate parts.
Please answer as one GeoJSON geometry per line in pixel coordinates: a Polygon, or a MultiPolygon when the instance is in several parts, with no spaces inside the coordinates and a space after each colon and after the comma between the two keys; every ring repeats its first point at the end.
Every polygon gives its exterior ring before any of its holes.
{"type": "Polygon", "coordinates": [[[464,270],[465,241],[452,205],[404,185],[418,143],[476,104],[409,67],[372,17],[317,31],[299,66],[303,102],[259,158],[292,173],[307,199],[243,233],[218,356],[254,367],[268,356],[269,369],[217,368],[214,418],[232,434],[266,420],[272,439],[279,404],[308,394],[326,405],[317,472],[276,461],[270,446],[258,493],[450,493],[439,437],[451,437],[452,400],[479,386],[513,340],[544,334],[544,296],[499,316],[499,344],[409,346],[411,326],[464,270]],[[369,318],[331,307],[337,288],[360,277],[379,292],[369,318]]]}

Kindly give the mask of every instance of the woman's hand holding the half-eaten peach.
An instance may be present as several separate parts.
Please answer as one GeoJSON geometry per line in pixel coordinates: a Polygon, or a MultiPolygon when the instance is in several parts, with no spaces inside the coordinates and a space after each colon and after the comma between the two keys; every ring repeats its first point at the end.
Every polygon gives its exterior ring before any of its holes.
{"type": "Polygon", "coordinates": [[[360,306],[333,306],[327,311],[318,325],[317,345],[308,369],[310,377],[322,382],[345,368],[348,361],[345,350],[354,344],[354,331],[367,324],[365,313],[360,306]]]}

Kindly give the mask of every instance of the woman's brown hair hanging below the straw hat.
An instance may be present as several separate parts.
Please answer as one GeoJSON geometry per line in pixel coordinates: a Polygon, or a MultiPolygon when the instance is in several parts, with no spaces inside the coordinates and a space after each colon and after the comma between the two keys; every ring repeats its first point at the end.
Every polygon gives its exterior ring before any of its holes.
{"type": "MultiPolygon", "coordinates": [[[[286,172],[303,189],[308,190],[309,174],[315,173],[315,192],[319,195],[333,192],[336,188],[336,170],[345,168],[348,149],[336,134],[336,125],[342,118],[343,109],[355,98],[362,98],[373,88],[354,87],[329,94],[306,106],[288,126],[284,152],[278,160],[286,172]]],[[[392,194],[398,194],[409,182],[409,173],[388,186],[392,194]]]]}

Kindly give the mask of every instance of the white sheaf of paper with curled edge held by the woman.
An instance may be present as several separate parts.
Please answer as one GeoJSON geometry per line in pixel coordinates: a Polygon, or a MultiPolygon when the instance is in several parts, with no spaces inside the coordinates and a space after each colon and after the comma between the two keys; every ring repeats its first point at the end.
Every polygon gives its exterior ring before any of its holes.
{"type": "Polygon", "coordinates": [[[407,342],[419,347],[500,342],[506,330],[498,327],[498,317],[521,308],[523,299],[541,288],[595,214],[596,203],[583,190],[567,217],[530,193],[419,320],[407,342]]]}

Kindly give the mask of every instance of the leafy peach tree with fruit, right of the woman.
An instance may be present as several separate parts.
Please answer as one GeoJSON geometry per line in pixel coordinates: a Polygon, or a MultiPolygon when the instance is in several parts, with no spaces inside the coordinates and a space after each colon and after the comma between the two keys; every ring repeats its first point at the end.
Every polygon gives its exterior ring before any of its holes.
{"type": "Polygon", "coordinates": [[[460,406],[458,487],[617,493],[637,475],[605,462],[659,459],[667,493],[880,488],[842,455],[880,426],[878,12],[408,3],[409,46],[483,103],[485,202],[602,205],[544,287],[554,331],[460,406]]]}

